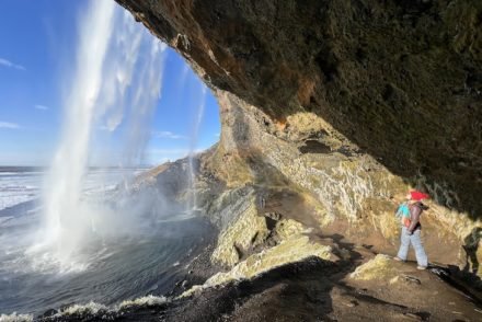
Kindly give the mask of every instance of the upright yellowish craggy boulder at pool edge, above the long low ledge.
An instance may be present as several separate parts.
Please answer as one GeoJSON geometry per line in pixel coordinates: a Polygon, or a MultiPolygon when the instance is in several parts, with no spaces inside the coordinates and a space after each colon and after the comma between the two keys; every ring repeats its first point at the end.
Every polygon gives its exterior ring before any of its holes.
{"type": "Polygon", "coordinates": [[[253,198],[251,205],[239,216],[238,220],[219,235],[211,261],[231,267],[240,260],[239,251],[263,243],[268,234],[266,219],[257,216],[253,198]]]}

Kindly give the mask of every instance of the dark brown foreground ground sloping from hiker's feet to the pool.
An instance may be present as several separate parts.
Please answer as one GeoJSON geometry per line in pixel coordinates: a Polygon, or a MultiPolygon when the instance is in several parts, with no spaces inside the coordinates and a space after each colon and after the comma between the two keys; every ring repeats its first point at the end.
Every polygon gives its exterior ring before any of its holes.
{"type": "MultiPolygon", "coordinates": [[[[118,311],[81,312],[43,321],[479,321],[477,298],[457,291],[414,263],[388,261],[390,272],[420,285],[397,284],[386,276],[351,277],[356,265],[375,254],[348,246],[348,261],[309,257],[252,279],[211,287],[196,296],[130,306],[118,311]]],[[[371,264],[371,268],[377,265],[371,264]]],[[[443,269],[441,267],[439,269],[443,269]]]]}

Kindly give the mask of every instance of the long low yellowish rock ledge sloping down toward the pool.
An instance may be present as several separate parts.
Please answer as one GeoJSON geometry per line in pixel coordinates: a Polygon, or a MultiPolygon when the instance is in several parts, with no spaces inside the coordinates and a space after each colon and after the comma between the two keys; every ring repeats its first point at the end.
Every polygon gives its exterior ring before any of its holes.
{"type": "Polygon", "coordinates": [[[251,255],[227,273],[214,275],[205,285],[215,286],[231,280],[253,278],[261,273],[284,264],[299,262],[310,256],[330,260],[332,256],[331,248],[312,243],[307,235],[292,237],[272,249],[251,255]]]}

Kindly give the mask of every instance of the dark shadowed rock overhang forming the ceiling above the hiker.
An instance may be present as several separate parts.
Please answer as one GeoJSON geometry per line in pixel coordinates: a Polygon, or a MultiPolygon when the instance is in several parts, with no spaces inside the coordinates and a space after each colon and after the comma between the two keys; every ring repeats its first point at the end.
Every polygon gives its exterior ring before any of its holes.
{"type": "Polygon", "coordinates": [[[482,215],[479,0],[116,0],[214,89],[310,111],[437,202],[482,215]]]}

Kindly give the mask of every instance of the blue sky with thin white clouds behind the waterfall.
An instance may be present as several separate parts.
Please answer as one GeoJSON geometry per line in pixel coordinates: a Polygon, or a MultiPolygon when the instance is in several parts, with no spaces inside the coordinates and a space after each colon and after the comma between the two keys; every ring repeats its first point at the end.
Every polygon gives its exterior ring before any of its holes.
{"type": "MultiPolygon", "coordinates": [[[[72,74],[80,13],[84,0],[3,0],[0,12],[0,165],[48,165],[62,126],[62,92],[72,74]]],[[[165,56],[161,99],[151,119],[145,163],[184,157],[193,142],[202,83],[171,48],[165,56]],[[186,68],[187,71],[186,71],[186,68]],[[181,76],[185,73],[185,81],[181,76]]],[[[68,108],[68,107],[67,107],[68,108]]],[[[196,149],[219,139],[219,108],[210,91],[196,149]]],[[[102,151],[124,143],[120,135],[92,133],[91,164],[102,151]],[[96,157],[95,157],[96,156],[96,157]]],[[[104,162],[105,163],[105,162],[104,162]]],[[[107,162],[108,163],[108,162],[107,162]]],[[[106,165],[106,164],[100,164],[106,165]]]]}

